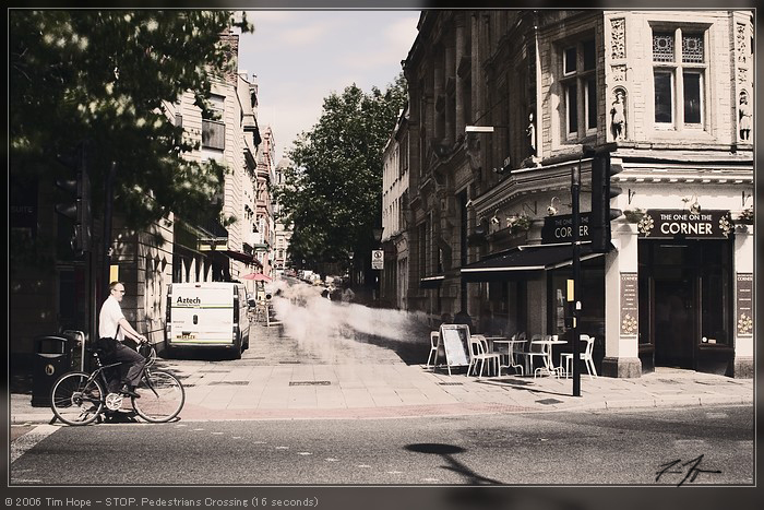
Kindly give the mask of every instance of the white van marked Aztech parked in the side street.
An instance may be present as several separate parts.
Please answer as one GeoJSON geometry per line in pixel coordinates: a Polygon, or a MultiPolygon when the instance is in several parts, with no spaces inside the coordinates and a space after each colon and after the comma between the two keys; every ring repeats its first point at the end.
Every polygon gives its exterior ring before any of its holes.
{"type": "Polygon", "coordinates": [[[247,289],[240,283],[172,283],[167,289],[165,347],[224,348],[239,359],[249,347],[247,289]]]}

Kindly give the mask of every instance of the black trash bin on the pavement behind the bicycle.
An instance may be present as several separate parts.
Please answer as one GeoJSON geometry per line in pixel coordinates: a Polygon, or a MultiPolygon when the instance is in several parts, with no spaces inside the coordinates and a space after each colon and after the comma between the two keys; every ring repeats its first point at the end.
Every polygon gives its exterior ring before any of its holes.
{"type": "Polygon", "coordinates": [[[72,339],[45,335],[35,339],[35,364],[32,372],[32,406],[50,405],[50,391],[59,377],[72,370],[72,339]]]}

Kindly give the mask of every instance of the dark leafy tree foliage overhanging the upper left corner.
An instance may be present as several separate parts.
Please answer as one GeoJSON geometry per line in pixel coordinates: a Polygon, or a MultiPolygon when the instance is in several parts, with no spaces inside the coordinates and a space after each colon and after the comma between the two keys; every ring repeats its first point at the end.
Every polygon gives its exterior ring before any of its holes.
{"type": "Polygon", "coordinates": [[[12,175],[52,182],[56,155],[87,141],[94,214],[116,162],[115,209],[131,226],[216,217],[224,169],[183,158],[193,147],[165,108],[191,91],[208,111],[234,24],[228,11],[9,11],[12,175]]]}

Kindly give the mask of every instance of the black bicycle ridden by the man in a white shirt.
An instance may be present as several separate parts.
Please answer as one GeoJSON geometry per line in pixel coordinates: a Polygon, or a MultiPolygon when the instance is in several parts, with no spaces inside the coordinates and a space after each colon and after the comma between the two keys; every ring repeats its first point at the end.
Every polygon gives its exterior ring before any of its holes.
{"type": "MultiPolygon", "coordinates": [[[[89,425],[102,417],[106,411],[119,411],[124,395],[107,392],[109,380],[106,370],[118,367],[126,361],[104,365],[99,351],[86,347],[91,354],[95,370],[88,372],[72,371],[61,376],[50,392],[50,407],[56,418],[67,425],[89,425]]],[[[147,358],[141,376],[141,382],[135,388],[140,398],[131,396],[135,413],[150,423],[166,423],[178,416],[186,403],[186,390],[174,375],[156,370],[154,361],[156,351],[144,347],[147,358]],[[153,358],[151,357],[153,353],[153,358]]]]}

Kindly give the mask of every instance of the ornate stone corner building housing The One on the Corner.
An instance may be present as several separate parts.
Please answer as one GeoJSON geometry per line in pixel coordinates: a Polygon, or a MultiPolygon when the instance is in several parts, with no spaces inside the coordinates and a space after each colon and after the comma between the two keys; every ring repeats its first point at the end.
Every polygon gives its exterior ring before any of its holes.
{"type": "Polygon", "coordinates": [[[752,377],[752,12],[426,11],[418,28],[409,308],[571,351],[580,171],[580,331],[598,372],[752,377]],[[620,211],[605,250],[595,154],[620,211]]]}

